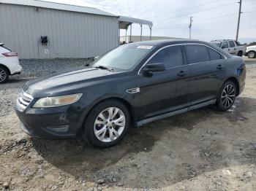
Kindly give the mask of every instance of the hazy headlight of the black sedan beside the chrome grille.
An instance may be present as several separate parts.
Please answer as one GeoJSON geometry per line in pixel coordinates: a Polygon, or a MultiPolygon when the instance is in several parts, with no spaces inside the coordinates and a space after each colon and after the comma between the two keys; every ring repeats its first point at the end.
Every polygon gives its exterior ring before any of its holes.
{"type": "Polygon", "coordinates": [[[63,95],[56,97],[39,98],[37,102],[32,106],[33,108],[47,108],[55,106],[65,106],[73,104],[80,99],[83,93],[63,95]]]}

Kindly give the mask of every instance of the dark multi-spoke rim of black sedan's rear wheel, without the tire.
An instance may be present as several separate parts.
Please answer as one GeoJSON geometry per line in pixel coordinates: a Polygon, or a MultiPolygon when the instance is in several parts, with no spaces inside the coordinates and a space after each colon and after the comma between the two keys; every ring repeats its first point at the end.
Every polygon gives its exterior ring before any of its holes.
{"type": "Polygon", "coordinates": [[[236,98],[236,91],[235,87],[233,85],[227,85],[224,90],[222,91],[222,105],[227,107],[232,106],[233,102],[236,98]]]}

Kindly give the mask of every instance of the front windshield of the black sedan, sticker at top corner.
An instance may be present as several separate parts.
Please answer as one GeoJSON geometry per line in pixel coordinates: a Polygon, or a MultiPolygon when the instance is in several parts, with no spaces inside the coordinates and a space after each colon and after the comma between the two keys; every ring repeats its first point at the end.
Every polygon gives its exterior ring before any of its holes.
{"type": "Polygon", "coordinates": [[[141,44],[124,44],[102,55],[94,61],[93,66],[99,68],[129,71],[150,52],[152,46],[141,44]]]}

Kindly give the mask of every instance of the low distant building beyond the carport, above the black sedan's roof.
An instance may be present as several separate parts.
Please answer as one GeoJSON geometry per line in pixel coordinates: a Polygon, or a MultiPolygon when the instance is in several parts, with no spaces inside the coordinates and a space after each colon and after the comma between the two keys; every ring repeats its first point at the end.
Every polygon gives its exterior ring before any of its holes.
{"type": "MultiPolygon", "coordinates": [[[[182,39],[176,37],[168,37],[168,36],[141,36],[141,41],[148,40],[162,40],[162,39],[182,39]]],[[[120,44],[124,44],[123,42],[140,42],[140,36],[120,36],[120,44]]]]}

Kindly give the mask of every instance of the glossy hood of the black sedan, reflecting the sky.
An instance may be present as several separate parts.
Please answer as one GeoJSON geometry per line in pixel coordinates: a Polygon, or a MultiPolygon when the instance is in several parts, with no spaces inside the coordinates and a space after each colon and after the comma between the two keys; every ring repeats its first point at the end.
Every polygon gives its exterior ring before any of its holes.
{"type": "Polygon", "coordinates": [[[23,90],[34,98],[50,96],[62,91],[85,87],[86,84],[93,84],[101,79],[108,80],[113,75],[120,73],[97,68],[80,69],[33,79],[26,83],[23,90]]]}

